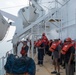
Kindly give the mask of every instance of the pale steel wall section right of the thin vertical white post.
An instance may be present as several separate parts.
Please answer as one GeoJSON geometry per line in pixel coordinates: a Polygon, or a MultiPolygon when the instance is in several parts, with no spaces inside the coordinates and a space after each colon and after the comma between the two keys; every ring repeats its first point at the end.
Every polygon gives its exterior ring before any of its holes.
{"type": "Polygon", "coordinates": [[[71,37],[76,39],[76,0],[70,0],[61,9],[62,13],[62,39],[71,37]],[[66,27],[65,27],[66,26],[66,27]],[[64,28],[65,27],[65,28],[64,28]]]}

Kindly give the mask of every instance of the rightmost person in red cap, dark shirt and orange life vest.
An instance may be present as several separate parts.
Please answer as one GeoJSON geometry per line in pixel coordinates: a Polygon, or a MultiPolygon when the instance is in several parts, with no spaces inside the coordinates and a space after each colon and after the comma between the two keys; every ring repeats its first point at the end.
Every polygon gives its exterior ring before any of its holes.
{"type": "Polygon", "coordinates": [[[74,53],[75,48],[72,44],[71,38],[66,39],[66,45],[61,50],[65,56],[66,75],[74,75],[74,53]]]}

